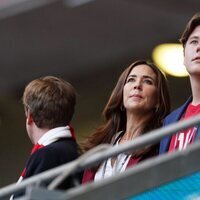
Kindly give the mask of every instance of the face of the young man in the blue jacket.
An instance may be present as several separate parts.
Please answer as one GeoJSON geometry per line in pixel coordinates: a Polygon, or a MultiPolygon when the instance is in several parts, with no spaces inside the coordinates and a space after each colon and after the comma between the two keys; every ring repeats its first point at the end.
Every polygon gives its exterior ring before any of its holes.
{"type": "Polygon", "coordinates": [[[190,75],[200,75],[200,25],[194,29],[186,42],[184,65],[190,75]]]}

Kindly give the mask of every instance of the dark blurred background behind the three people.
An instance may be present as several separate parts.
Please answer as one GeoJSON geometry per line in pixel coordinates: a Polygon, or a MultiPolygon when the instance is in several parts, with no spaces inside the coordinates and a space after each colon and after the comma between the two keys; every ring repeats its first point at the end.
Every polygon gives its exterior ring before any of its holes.
{"type": "MultiPolygon", "coordinates": [[[[199,8],[197,0],[94,0],[73,8],[55,1],[13,14],[0,2],[0,186],[18,179],[32,147],[21,103],[29,81],[55,75],[74,85],[72,125],[82,141],[101,123],[124,67],[151,60],[157,44],[178,42],[199,8]]],[[[175,108],[190,95],[189,79],[167,77],[175,108]]]]}

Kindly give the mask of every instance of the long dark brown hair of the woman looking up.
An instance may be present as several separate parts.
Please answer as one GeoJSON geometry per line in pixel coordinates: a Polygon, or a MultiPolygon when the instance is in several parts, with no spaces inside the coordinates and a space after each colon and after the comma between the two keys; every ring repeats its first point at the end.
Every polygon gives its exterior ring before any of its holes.
{"type": "Polygon", "coordinates": [[[170,96],[166,78],[153,63],[143,60],[136,61],[127,67],[119,77],[102,113],[105,123],[97,128],[97,130],[88,136],[82,143],[83,152],[86,152],[99,144],[111,143],[113,136],[117,132],[126,130],[126,112],[121,109],[121,106],[123,105],[123,88],[129,73],[138,65],[147,65],[156,74],[158,98],[158,108],[152,112],[151,118],[143,123],[141,134],[162,125],[164,117],[170,111],[170,96]]]}

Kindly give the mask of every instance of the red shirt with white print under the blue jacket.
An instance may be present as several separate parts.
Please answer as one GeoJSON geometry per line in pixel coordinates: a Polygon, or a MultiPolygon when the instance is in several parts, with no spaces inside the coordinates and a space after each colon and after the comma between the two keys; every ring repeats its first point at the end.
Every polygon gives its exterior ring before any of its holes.
{"type": "MultiPolygon", "coordinates": [[[[200,114],[200,104],[196,106],[189,104],[181,120],[190,118],[197,114],[200,114]]],[[[196,131],[196,127],[190,127],[173,135],[169,146],[169,152],[174,151],[175,149],[185,149],[188,144],[193,143],[196,136],[196,131]]]]}

